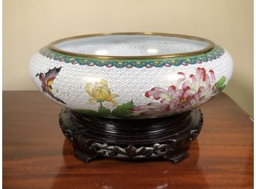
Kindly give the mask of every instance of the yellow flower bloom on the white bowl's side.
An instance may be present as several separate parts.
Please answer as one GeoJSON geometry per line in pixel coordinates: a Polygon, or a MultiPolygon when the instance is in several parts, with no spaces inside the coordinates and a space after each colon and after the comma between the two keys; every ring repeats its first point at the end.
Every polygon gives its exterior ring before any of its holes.
{"type": "Polygon", "coordinates": [[[113,104],[114,107],[118,106],[117,101],[113,100],[117,94],[111,94],[110,88],[108,88],[107,81],[100,79],[99,82],[95,82],[94,87],[90,90],[91,83],[89,82],[85,86],[85,90],[88,95],[91,97],[89,99],[90,104],[94,104],[95,101],[98,101],[102,105],[102,101],[109,101],[113,104]]]}

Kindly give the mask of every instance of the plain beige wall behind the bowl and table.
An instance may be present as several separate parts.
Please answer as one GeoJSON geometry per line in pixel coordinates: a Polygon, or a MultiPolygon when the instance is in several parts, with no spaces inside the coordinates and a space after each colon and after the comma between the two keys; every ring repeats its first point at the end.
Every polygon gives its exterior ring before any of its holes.
{"type": "Polygon", "coordinates": [[[4,0],[3,89],[36,90],[29,58],[52,40],[98,32],[169,32],[209,38],[230,51],[225,92],[253,113],[252,0],[4,0]]]}

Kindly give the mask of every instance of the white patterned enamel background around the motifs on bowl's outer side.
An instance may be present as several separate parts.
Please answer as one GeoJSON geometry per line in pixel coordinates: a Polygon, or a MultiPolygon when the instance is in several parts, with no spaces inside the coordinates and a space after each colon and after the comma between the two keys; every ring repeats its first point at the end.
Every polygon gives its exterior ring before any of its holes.
{"type": "MultiPolygon", "coordinates": [[[[177,82],[177,73],[182,71],[187,76],[195,74],[196,68],[205,68],[207,73],[211,69],[215,72],[216,79],[226,76],[227,81],[232,76],[232,59],[230,54],[225,53],[217,60],[196,65],[179,65],[162,68],[106,68],[88,65],[72,65],[57,60],[50,60],[47,57],[37,53],[30,63],[30,74],[35,81],[38,89],[42,92],[41,83],[36,74],[46,73],[52,68],[61,68],[60,73],[54,79],[52,93],[59,97],[66,104],[52,99],[49,94],[45,94],[49,99],[57,102],[61,106],[71,109],[98,110],[98,104],[90,104],[90,96],[85,91],[85,85],[94,82],[99,78],[107,80],[112,93],[118,94],[115,98],[118,104],[124,104],[128,101],[134,101],[135,105],[147,104],[152,99],[146,98],[144,93],[154,87],[167,89],[170,85],[177,82]]],[[[113,110],[109,102],[103,102],[104,106],[113,110]]]]}

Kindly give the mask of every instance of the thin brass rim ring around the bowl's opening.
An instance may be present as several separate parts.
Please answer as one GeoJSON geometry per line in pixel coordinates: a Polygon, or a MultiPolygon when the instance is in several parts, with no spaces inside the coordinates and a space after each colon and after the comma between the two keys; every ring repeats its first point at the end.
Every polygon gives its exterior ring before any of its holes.
{"type": "Polygon", "coordinates": [[[63,38],[63,39],[55,40],[51,42],[47,47],[51,49],[51,51],[55,51],[61,54],[66,54],[73,57],[113,59],[113,60],[138,60],[138,59],[161,59],[161,58],[171,58],[171,57],[188,57],[188,56],[194,56],[198,54],[205,54],[208,51],[212,50],[214,46],[215,44],[211,40],[194,37],[190,35],[177,35],[177,34],[157,33],[157,32],[119,32],[119,33],[100,33],[100,34],[91,34],[91,35],[79,35],[79,36],[74,36],[70,38],[63,38]],[[105,56],[105,55],[81,54],[81,53],[75,53],[71,51],[63,51],[62,49],[58,49],[55,46],[57,43],[62,43],[67,40],[106,36],[106,35],[159,35],[159,36],[166,36],[166,37],[176,37],[176,38],[185,38],[185,39],[191,39],[191,40],[204,41],[208,43],[208,46],[199,51],[191,51],[191,52],[177,53],[177,54],[149,55],[149,56],[105,56]]]}

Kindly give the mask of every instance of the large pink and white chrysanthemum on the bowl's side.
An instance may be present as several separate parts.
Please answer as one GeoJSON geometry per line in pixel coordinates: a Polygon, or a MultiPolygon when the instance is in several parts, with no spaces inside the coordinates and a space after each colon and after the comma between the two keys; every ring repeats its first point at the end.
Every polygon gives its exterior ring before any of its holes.
{"type": "Polygon", "coordinates": [[[212,70],[209,74],[205,68],[196,68],[196,74],[186,77],[184,73],[178,73],[177,84],[164,88],[152,88],[145,93],[147,98],[153,98],[154,102],[133,107],[131,110],[141,111],[141,116],[157,117],[159,115],[171,115],[177,112],[189,110],[205,103],[224,89],[226,77],[222,76],[216,82],[216,76],[212,70]]]}

